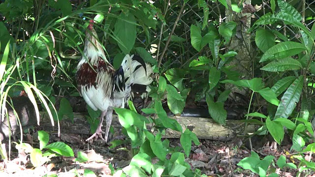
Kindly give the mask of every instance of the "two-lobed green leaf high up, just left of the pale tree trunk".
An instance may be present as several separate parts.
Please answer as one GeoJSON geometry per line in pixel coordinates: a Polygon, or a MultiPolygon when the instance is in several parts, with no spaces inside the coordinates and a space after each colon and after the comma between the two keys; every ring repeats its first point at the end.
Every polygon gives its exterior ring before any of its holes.
{"type": "Polygon", "coordinates": [[[197,26],[190,26],[191,45],[198,52],[200,52],[201,49],[210,42],[211,38],[213,38],[213,35],[214,32],[209,31],[206,33],[206,35],[201,36],[201,30],[197,26]]]}

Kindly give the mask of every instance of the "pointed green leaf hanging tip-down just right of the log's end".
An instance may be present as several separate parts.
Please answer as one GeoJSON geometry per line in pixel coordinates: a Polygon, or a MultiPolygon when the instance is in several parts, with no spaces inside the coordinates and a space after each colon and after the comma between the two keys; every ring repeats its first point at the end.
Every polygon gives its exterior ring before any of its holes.
{"type": "Polygon", "coordinates": [[[281,145],[282,140],[284,139],[284,128],[280,122],[271,121],[268,117],[266,119],[266,126],[271,134],[271,136],[275,139],[275,141],[281,145]]]}

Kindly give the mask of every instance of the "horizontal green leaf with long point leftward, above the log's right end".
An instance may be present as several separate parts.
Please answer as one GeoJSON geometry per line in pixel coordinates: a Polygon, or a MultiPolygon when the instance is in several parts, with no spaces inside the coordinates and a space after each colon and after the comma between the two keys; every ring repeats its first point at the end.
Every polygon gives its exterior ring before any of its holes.
{"type": "Polygon", "coordinates": [[[245,87],[245,88],[249,88],[252,91],[259,91],[261,89],[263,89],[265,86],[262,83],[262,79],[261,78],[253,78],[251,80],[238,80],[238,81],[232,81],[232,80],[224,80],[221,81],[221,83],[226,84],[226,83],[230,83],[230,84],[234,84],[236,86],[240,86],[240,87],[245,87]]]}

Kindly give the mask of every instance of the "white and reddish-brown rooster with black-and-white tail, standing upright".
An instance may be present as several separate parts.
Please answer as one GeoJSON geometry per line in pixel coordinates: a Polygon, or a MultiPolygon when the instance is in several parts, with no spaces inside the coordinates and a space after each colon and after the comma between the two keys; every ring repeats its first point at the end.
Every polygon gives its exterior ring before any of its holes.
{"type": "Polygon", "coordinates": [[[152,83],[152,68],[138,56],[123,59],[119,69],[115,70],[106,59],[103,48],[90,20],[86,30],[84,55],[76,73],[76,81],[80,95],[95,111],[101,111],[99,125],[95,133],[86,141],[100,138],[107,142],[114,108],[124,108],[133,92],[148,92],[152,83]],[[102,131],[105,117],[106,130],[102,131]],[[105,137],[102,134],[105,133],[105,137]]]}

